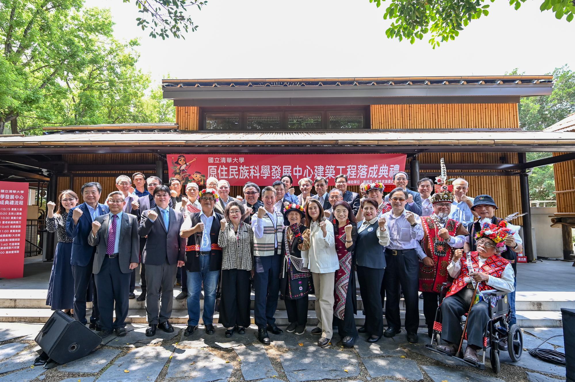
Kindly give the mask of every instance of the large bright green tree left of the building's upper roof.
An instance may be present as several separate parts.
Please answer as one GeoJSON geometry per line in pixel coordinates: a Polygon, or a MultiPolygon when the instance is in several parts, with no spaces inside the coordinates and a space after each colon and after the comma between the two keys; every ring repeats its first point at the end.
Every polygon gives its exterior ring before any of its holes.
{"type": "Polygon", "coordinates": [[[39,134],[46,125],[173,121],[157,90],[146,95],[138,42],[115,40],[109,11],[82,5],[0,3],[0,133],[7,122],[12,133],[39,134]]]}

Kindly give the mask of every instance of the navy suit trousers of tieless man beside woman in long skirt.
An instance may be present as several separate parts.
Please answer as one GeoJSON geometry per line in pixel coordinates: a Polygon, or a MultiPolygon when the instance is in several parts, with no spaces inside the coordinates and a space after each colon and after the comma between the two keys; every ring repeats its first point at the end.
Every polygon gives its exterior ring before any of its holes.
{"type": "Polygon", "coordinates": [[[74,277],[74,319],[86,325],[86,300],[89,291],[93,291],[92,297],[92,314],[90,322],[96,323],[100,318],[98,310],[98,292],[94,283],[94,274],[92,273],[94,260],[86,267],[81,265],[72,265],[72,276],[74,277]]]}

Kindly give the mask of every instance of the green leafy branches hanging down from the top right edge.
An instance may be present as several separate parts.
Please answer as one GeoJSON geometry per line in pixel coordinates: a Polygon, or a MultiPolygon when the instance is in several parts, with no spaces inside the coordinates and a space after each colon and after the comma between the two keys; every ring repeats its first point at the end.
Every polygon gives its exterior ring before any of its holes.
{"type": "MultiPolygon", "coordinates": [[[[392,20],[385,31],[388,38],[423,40],[427,34],[432,47],[440,43],[455,40],[459,31],[463,30],[472,20],[488,16],[489,2],[495,0],[390,0],[385,9],[384,18],[392,20]]],[[[509,5],[516,10],[526,0],[509,0],[509,5]]],[[[380,7],[385,0],[369,0],[380,7]]],[[[573,20],[575,2],[573,0],[545,0],[540,6],[541,11],[552,10],[555,17],[565,17],[568,22],[573,20]]]]}

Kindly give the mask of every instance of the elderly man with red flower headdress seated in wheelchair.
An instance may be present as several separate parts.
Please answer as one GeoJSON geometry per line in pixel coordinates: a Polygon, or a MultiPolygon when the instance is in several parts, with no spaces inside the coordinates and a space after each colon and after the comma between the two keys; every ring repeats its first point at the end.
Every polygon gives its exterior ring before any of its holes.
{"type": "Polygon", "coordinates": [[[449,275],[454,278],[453,285],[441,304],[441,338],[447,344],[438,345],[440,351],[451,355],[457,352],[462,336],[461,316],[475,300],[467,314],[467,348],[463,359],[478,361],[477,349],[483,347],[484,330],[489,321],[488,303],[478,297],[481,292],[489,290],[508,293],[515,290],[511,262],[501,257],[505,247],[503,241],[511,235],[512,231],[507,227],[486,223],[476,235],[476,251],[463,254],[463,250],[455,250],[455,256],[447,267],[449,275]],[[474,293],[476,290],[477,295],[474,293]]]}

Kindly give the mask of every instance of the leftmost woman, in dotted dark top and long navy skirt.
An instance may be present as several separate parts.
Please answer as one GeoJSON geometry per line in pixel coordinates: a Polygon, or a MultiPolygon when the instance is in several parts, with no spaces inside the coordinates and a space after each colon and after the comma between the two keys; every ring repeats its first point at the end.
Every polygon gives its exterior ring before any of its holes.
{"type": "Polygon", "coordinates": [[[46,229],[55,232],[58,238],[56,254],[52,263],[46,305],[52,310],[61,309],[71,314],[74,307],[74,277],[72,277],[72,238],[66,234],[68,211],[78,204],[78,195],[72,190],[64,190],[58,196],[58,210],[54,213],[54,202],[48,202],[46,229]]]}

